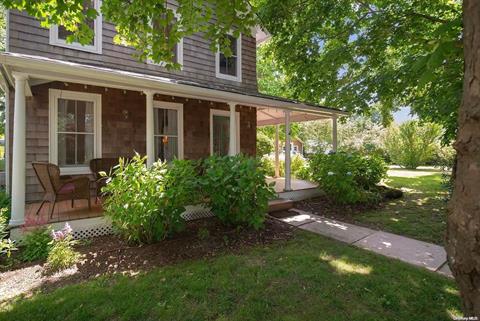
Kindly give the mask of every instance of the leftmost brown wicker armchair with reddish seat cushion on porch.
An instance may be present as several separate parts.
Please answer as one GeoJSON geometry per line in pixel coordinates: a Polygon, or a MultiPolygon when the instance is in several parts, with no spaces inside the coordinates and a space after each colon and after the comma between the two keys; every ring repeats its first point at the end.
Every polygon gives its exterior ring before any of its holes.
{"type": "Polygon", "coordinates": [[[32,163],[32,166],[45,191],[45,196],[37,210],[37,215],[45,202],[50,203],[50,218],[53,217],[55,203],[60,201],[71,200],[73,207],[75,200],[86,199],[88,201],[88,209],[91,209],[90,180],[88,177],[63,178],[60,176],[58,166],[50,163],[32,163]]]}

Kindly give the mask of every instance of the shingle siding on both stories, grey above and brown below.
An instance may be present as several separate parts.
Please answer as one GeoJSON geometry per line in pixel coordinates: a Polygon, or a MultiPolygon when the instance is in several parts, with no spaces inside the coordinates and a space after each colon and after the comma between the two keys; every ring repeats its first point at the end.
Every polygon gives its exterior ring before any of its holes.
{"type": "MultiPolygon", "coordinates": [[[[170,1],[169,1],[170,2],[170,1]]],[[[139,62],[134,50],[114,45],[115,27],[103,21],[102,54],[89,53],[49,44],[49,30],[25,12],[8,13],[8,50],[13,53],[42,56],[62,61],[119,69],[196,82],[217,89],[257,93],[256,44],[251,35],[242,35],[242,82],[219,79],[215,76],[215,53],[201,34],[183,40],[183,68],[168,71],[161,66],[139,62]]],[[[74,77],[75,75],[72,75],[74,77]]],[[[102,157],[131,156],[134,151],[145,154],[146,102],[139,91],[63,82],[32,86],[33,97],[27,98],[27,171],[26,200],[37,201],[43,197],[41,186],[31,163],[49,160],[49,94],[48,89],[91,92],[102,95],[102,157]],[[127,115],[127,116],[126,116],[127,115]]],[[[10,95],[10,137],[13,135],[14,92],[10,95]]],[[[184,104],[184,157],[199,159],[210,154],[210,109],[228,110],[226,104],[155,95],[156,100],[184,104]]],[[[255,155],[256,110],[238,106],[240,112],[241,152],[255,155]]],[[[13,139],[10,139],[10,144],[13,139]]],[[[10,149],[12,150],[12,149],[10,149]]],[[[10,155],[11,156],[11,155],[10,155]]],[[[10,157],[11,159],[11,157],[10,157]]]]}

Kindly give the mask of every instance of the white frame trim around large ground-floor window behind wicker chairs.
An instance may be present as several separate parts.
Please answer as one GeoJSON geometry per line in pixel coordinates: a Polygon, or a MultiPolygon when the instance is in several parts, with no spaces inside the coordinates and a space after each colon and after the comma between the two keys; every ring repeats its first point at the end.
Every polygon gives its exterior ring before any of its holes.
{"type": "MultiPolygon", "coordinates": [[[[58,165],[58,99],[72,99],[93,102],[94,112],[94,150],[93,157],[102,157],[102,95],[60,89],[48,90],[48,159],[58,165]]],[[[89,174],[88,166],[61,167],[61,174],[89,174]]]]}

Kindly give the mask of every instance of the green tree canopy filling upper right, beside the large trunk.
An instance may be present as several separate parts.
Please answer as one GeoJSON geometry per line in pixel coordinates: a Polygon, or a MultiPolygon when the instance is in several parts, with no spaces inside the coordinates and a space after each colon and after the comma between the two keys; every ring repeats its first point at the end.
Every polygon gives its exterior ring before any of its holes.
{"type": "MultiPolygon", "coordinates": [[[[290,98],[346,108],[384,123],[409,106],[456,131],[463,77],[459,0],[258,0],[290,98]],[[373,107],[373,108],[372,108],[373,107]]],[[[269,63],[268,61],[266,62],[269,63]]]]}

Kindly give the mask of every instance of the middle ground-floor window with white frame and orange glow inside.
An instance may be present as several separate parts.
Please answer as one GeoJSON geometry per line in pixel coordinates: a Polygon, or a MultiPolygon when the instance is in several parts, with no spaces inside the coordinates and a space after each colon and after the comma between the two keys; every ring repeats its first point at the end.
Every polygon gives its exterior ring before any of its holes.
{"type": "Polygon", "coordinates": [[[155,101],[154,144],[155,158],[162,161],[183,158],[183,105],[155,101]]]}

